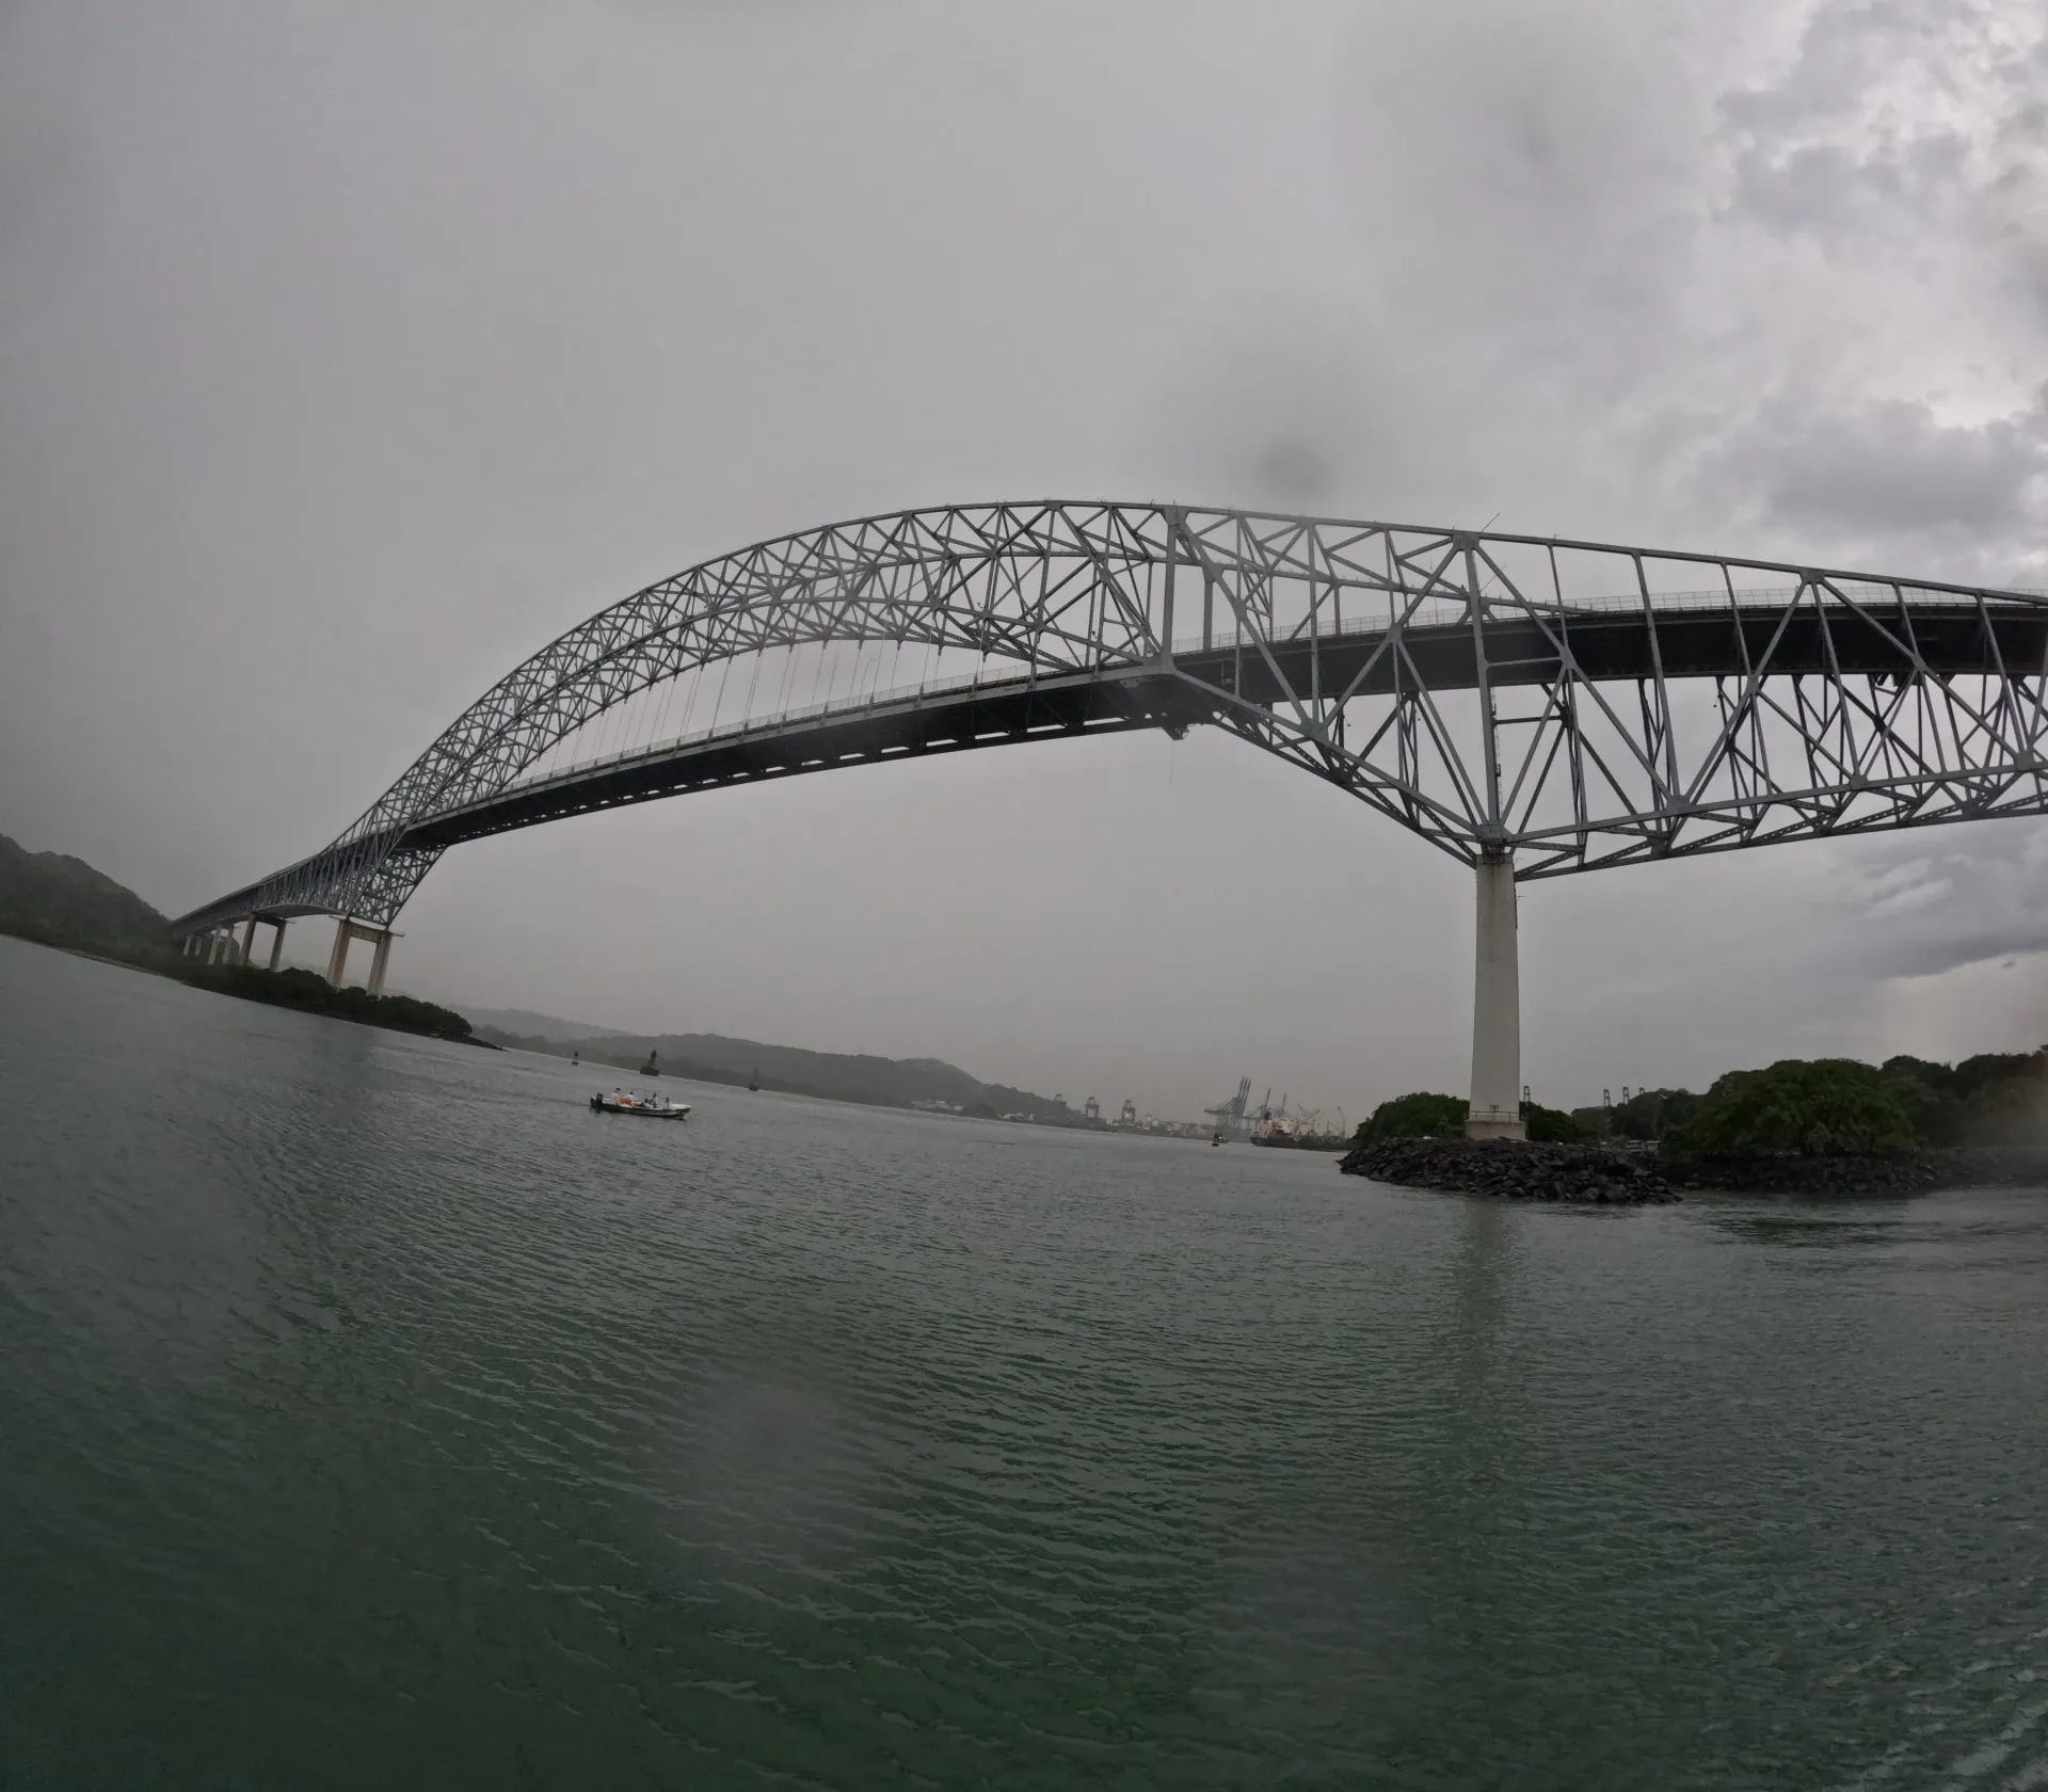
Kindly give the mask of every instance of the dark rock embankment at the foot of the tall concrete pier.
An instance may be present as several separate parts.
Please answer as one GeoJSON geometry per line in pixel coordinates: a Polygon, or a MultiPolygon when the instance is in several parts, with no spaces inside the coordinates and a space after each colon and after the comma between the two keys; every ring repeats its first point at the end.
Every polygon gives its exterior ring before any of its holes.
{"type": "Polygon", "coordinates": [[[1389,1139],[1337,1159],[1346,1176],[1491,1194],[1647,1206],[1681,1190],[1724,1194],[1929,1194],[1937,1188],[2048,1186],[2048,1151],[1978,1147],[1923,1157],[1757,1157],[1665,1161],[1628,1145],[1513,1145],[1501,1139],[1389,1139]]]}

